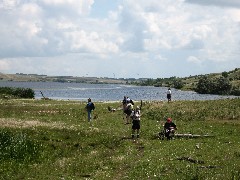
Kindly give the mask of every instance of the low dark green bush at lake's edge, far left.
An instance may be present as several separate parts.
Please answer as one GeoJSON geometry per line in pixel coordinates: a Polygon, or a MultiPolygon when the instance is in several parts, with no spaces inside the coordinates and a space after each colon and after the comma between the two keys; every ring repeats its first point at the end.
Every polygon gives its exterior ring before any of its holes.
{"type": "Polygon", "coordinates": [[[12,95],[17,98],[34,98],[34,91],[30,88],[0,87],[0,94],[12,95]]]}

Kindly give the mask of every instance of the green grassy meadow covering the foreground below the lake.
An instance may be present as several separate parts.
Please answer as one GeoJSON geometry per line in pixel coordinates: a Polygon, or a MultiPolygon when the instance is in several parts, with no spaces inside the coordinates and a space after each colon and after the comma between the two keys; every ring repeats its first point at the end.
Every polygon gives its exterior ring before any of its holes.
{"type": "Polygon", "coordinates": [[[90,124],[82,102],[0,100],[0,179],[240,179],[240,99],[144,102],[134,140],[120,102],[95,105],[90,124]],[[213,137],[159,140],[167,116],[213,137]]]}

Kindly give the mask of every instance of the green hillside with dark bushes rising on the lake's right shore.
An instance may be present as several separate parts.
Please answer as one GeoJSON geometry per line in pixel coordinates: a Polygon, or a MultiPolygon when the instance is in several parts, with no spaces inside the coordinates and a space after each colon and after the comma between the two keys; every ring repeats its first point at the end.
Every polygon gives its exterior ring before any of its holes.
{"type": "Polygon", "coordinates": [[[133,82],[135,85],[172,87],[183,90],[193,90],[199,94],[218,94],[240,96],[240,69],[222,72],[218,74],[190,76],[188,78],[157,78],[147,79],[141,82],[133,82]]]}

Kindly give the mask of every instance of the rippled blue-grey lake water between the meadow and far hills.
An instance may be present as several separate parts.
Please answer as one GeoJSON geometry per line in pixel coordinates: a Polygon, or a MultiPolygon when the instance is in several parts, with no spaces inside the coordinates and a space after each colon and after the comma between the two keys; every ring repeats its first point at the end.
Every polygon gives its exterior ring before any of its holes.
{"type": "MultiPolygon", "coordinates": [[[[121,84],[85,84],[58,82],[13,82],[0,81],[0,87],[24,87],[35,91],[35,98],[40,99],[43,92],[45,97],[58,100],[86,101],[89,97],[93,101],[121,101],[123,96],[129,96],[135,101],[162,100],[166,101],[165,87],[130,86],[121,84]]],[[[172,89],[172,100],[214,100],[234,98],[234,96],[218,96],[197,94],[193,91],[172,89]]]]}

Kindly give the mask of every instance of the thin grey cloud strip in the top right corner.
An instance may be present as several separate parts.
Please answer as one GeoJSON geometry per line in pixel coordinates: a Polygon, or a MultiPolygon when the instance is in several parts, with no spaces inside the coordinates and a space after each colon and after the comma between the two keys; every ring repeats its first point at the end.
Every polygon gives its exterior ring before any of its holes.
{"type": "Polygon", "coordinates": [[[219,6],[219,7],[232,7],[240,8],[239,0],[186,0],[187,3],[200,4],[205,6],[219,6]]]}

